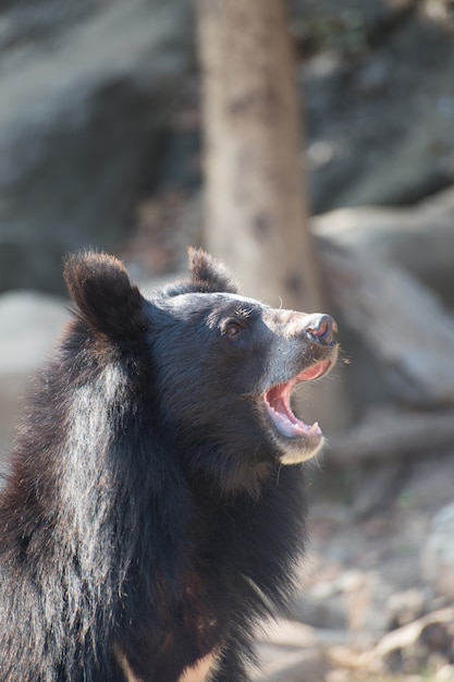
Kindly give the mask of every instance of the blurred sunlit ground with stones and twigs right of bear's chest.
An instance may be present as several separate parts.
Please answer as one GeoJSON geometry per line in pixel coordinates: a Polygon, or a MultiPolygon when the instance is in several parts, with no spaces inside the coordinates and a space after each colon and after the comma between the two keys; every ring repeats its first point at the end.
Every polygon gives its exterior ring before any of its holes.
{"type": "Polygon", "coordinates": [[[450,452],[392,476],[361,472],[349,503],[333,501],[348,473],[321,465],[330,494],[311,495],[302,590],[291,617],[259,637],[257,680],[454,680],[453,464],[450,452]],[[361,510],[377,486],[382,503],[361,510]]]}

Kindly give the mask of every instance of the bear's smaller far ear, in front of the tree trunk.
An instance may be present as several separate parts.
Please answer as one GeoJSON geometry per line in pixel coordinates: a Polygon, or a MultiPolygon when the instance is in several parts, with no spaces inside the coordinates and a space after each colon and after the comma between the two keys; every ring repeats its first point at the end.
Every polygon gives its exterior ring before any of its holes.
{"type": "Polygon", "coordinates": [[[238,285],[229,269],[201,248],[188,249],[193,287],[200,293],[225,292],[235,294],[238,285]]]}

